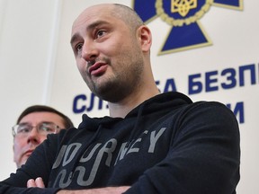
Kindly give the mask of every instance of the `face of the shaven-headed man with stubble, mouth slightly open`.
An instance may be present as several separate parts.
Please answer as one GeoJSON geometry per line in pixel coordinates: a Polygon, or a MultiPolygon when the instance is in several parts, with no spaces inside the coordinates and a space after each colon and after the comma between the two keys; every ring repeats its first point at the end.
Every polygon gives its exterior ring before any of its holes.
{"type": "Polygon", "coordinates": [[[137,32],[111,10],[99,5],[82,13],[74,22],[71,46],[90,90],[116,102],[138,87],[144,62],[137,32]]]}

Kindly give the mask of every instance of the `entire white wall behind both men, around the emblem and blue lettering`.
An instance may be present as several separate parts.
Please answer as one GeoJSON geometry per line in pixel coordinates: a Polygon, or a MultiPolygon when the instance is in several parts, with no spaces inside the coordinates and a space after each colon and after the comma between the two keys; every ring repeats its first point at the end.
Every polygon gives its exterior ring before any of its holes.
{"type": "MultiPolygon", "coordinates": [[[[0,179],[15,170],[11,127],[25,107],[46,103],[67,113],[76,125],[80,122],[82,114],[73,112],[73,100],[78,94],[89,97],[90,92],[77,72],[69,45],[71,25],[86,6],[105,2],[131,6],[133,0],[0,1],[0,120],[4,125],[0,136],[0,152],[4,153],[0,179]]],[[[200,81],[205,84],[204,75],[217,70],[219,75],[214,78],[218,81],[213,85],[219,85],[219,90],[192,94],[192,100],[221,101],[234,106],[239,101],[244,103],[245,122],[240,123],[241,181],[237,187],[241,194],[255,194],[259,190],[258,7],[256,0],[245,1],[242,11],[212,5],[199,21],[212,45],[162,56],[157,53],[171,26],[160,18],[148,23],[153,31],[152,66],[160,88],[164,89],[166,79],[174,78],[177,90],[188,94],[188,75],[201,74],[200,81]],[[238,73],[240,67],[249,64],[255,65],[255,84],[251,84],[251,76],[246,72],[245,86],[237,84],[229,90],[220,87],[227,82],[226,76],[220,75],[224,69],[233,68],[238,73]]],[[[89,101],[81,101],[80,105],[84,103],[89,101]]],[[[84,113],[100,116],[107,114],[107,110],[94,108],[84,113]]]]}

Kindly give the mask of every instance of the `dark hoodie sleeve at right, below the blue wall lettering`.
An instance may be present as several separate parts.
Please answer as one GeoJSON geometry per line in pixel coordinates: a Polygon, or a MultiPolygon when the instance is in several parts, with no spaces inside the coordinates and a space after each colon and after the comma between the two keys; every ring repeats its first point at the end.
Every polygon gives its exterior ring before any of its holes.
{"type": "Polygon", "coordinates": [[[218,102],[194,103],[173,121],[165,159],[144,172],[126,194],[235,194],[239,181],[239,129],[218,102]]]}

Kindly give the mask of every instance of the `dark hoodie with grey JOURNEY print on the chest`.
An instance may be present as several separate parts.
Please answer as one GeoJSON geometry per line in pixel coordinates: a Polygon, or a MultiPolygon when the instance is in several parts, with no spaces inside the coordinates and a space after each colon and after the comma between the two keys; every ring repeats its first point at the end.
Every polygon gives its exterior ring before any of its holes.
{"type": "Polygon", "coordinates": [[[0,193],[129,185],[127,194],[234,194],[239,163],[239,130],[231,110],[163,93],[125,119],[84,115],[77,129],[49,135],[0,183],[0,193]],[[25,189],[27,180],[37,177],[48,189],[25,189]]]}

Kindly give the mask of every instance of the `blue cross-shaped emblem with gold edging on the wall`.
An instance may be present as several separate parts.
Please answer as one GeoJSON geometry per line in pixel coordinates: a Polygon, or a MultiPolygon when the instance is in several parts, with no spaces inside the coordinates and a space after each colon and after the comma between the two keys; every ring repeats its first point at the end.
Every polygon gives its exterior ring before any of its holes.
{"type": "Polygon", "coordinates": [[[159,17],[171,26],[158,55],[212,45],[200,22],[211,6],[243,10],[243,0],[133,0],[145,23],[159,17]]]}

